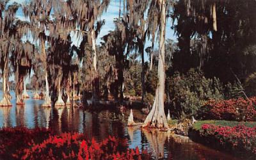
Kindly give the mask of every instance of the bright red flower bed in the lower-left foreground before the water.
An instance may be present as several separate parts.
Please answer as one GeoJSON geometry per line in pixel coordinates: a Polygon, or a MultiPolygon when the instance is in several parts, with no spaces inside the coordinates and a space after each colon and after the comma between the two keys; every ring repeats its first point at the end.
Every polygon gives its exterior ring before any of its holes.
{"type": "MultiPolygon", "coordinates": [[[[3,129],[15,132],[17,129],[3,129]]],[[[4,131],[0,132],[3,133],[4,131]]],[[[26,136],[27,132],[33,132],[33,130],[24,129],[20,135],[26,136]]],[[[45,130],[47,131],[47,130],[45,130]]],[[[35,131],[38,133],[37,131],[35,131]]],[[[0,134],[1,137],[6,135],[0,134]]],[[[83,134],[79,133],[63,133],[60,135],[47,134],[47,137],[36,143],[30,137],[20,139],[20,142],[28,142],[28,145],[15,147],[15,143],[12,143],[12,139],[5,138],[7,141],[11,141],[12,145],[8,147],[15,149],[10,150],[11,155],[5,156],[6,152],[1,152],[0,157],[8,157],[8,159],[150,159],[150,154],[147,150],[139,151],[136,149],[129,149],[126,140],[119,140],[114,137],[110,137],[106,140],[97,143],[94,139],[87,141],[84,139],[83,134]],[[19,150],[19,152],[17,152],[19,150]]],[[[7,136],[8,137],[8,136],[7,136]]],[[[41,136],[42,138],[42,136],[41,136]]],[[[0,141],[1,149],[6,151],[6,145],[4,141],[0,141]]]]}

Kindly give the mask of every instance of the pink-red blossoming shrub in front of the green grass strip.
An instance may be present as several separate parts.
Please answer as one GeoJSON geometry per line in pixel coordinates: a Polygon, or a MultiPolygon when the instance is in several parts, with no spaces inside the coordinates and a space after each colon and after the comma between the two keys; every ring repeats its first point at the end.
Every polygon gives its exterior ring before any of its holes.
{"type": "Polygon", "coordinates": [[[213,138],[214,141],[218,141],[225,148],[256,154],[256,127],[204,124],[200,136],[206,139],[213,138]]]}

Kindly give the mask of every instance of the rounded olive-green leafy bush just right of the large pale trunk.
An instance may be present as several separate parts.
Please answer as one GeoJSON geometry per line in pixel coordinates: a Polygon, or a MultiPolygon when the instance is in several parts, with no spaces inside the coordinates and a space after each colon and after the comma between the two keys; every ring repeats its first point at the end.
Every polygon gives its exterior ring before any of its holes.
{"type": "Polygon", "coordinates": [[[166,82],[170,92],[172,112],[175,116],[196,116],[200,106],[210,99],[224,99],[223,85],[214,77],[207,79],[202,72],[190,69],[187,74],[175,72],[166,82]]]}

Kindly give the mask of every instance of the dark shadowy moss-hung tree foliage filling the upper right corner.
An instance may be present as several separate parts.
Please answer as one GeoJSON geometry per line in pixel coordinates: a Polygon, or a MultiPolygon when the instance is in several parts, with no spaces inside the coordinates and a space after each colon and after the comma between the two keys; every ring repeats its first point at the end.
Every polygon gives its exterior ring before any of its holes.
{"type": "Polygon", "coordinates": [[[201,67],[205,76],[223,83],[236,81],[230,68],[239,79],[255,72],[255,6],[253,0],[177,1],[172,17],[179,51],[173,54],[173,70],[185,73],[201,67]],[[217,31],[212,28],[212,3],[217,8],[217,31]]]}

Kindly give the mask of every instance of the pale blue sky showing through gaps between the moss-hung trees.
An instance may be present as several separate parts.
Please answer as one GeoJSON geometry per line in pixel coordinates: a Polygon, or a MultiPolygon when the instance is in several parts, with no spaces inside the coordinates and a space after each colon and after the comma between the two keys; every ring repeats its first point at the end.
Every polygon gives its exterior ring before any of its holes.
{"type": "MultiPolygon", "coordinates": [[[[9,3],[12,4],[13,2],[17,2],[17,3],[22,4],[22,3],[25,3],[25,1],[26,0],[10,0],[9,3]]],[[[100,44],[102,36],[107,35],[109,31],[112,31],[115,29],[115,24],[114,24],[113,20],[115,18],[118,18],[118,14],[119,14],[119,1],[111,0],[111,3],[109,4],[107,12],[103,13],[102,17],[100,17],[101,20],[103,20],[103,19],[105,20],[105,25],[102,27],[102,29],[100,31],[100,35],[97,38],[97,44],[100,44]]],[[[19,10],[17,11],[16,17],[19,18],[20,20],[26,20],[26,18],[24,17],[24,14],[22,13],[21,8],[19,8],[19,10]]],[[[171,29],[171,25],[172,25],[172,20],[167,19],[166,39],[176,40],[177,38],[176,38],[176,36],[174,36],[174,31],[173,31],[173,29],[171,29]]],[[[80,41],[76,38],[76,36],[72,36],[72,42],[74,45],[77,45],[77,44],[79,44],[80,41]]],[[[151,46],[151,40],[147,40],[147,42],[145,43],[145,49],[150,46],[151,46]]],[[[158,46],[157,42],[156,42],[155,46],[157,48],[157,46],[158,46]]],[[[148,61],[147,54],[145,54],[145,60],[148,61]]],[[[11,80],[12,79],[13,79],[13,77],[11,77],[11,80]]],[[[27,81],[28,81],[28,78],[26,79],[26,82],[27,81]]]]}

